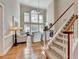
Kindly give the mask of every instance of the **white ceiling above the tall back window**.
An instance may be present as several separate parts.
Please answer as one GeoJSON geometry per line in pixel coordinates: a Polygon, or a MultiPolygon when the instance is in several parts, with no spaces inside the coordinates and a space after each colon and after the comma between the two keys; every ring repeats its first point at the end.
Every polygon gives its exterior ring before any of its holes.
{"type": "Polygon", "coordinates": [[[47,9],[47,6],[50,4],[51,1],[52,0],[19,0],[21,4],[25,4],[33,7],[38,7],[39,5],[39,8],[43,8],[43,9],[47,9]]]}

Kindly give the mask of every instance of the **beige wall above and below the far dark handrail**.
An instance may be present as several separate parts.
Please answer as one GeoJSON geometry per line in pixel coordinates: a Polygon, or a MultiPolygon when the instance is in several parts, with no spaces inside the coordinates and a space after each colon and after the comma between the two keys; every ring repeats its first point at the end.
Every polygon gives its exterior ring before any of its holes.
{"type": "MultiPolygon", "coordinates": [[[[55,0],[54,1],[54,15],[55,21],[60,17],[60,15],[72,4],[73,0],[55,0]]],[[[69,20],[71,16],[74,14],[74,6],[71,7],[65,15],[56,23],[55,30],[57,31],[61,25],[65,22],[65,20],[69,20]]]]}

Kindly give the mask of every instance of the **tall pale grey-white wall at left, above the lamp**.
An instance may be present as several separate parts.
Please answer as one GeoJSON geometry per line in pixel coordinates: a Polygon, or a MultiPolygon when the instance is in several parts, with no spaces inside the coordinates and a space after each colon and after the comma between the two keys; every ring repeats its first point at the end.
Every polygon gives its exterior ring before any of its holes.
{"type": "Polygon", "coordinates": [[[5,0],[4,6],[4,34],[8,34],[12,16],[19,20],[19,5],[17,0],[5,0]]]}

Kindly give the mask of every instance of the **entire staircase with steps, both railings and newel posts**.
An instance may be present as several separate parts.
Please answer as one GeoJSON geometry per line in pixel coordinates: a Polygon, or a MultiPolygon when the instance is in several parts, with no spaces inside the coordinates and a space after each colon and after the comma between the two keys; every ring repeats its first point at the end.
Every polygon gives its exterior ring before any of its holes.
{"type": "Polygon", "coordinates": [[[46,57],[45,59],[71,59],[72,45],[70,35],[74,34],[72,28],[75,21],[78,19],[78,16],[74,15],[74,12],[71,13],[72,16],[69,16],[70,19],[64,21],[63,25],[60,26],[52,39],[48,42],[46,42],[46,32],[53,28],[63,16],[68,15],[74,5],[75,3],[73,2],[49,28],[44,28],[45,39],[42,51],[46,57]]]}

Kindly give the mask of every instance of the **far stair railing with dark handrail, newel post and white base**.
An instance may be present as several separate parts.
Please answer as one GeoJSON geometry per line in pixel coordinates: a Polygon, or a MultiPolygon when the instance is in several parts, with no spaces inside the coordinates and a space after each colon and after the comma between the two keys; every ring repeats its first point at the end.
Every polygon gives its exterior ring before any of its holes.
{"type": "Polygon", "coordinates": [[[47,31],[49,31],[51,28],[53,28],[58,22],[59,20],[65,16],[66,13],[68,13],[69,9],[72,8],[74,6],[74,2],[61,14],[61,16],[52,24],[51,27],[49,28],[44,28],[44,33],[45,33],[45,38],[44,38],[44,48],[47,49],[48,46],[50,45],[50,43],[52,42],[53,39],[56,38],[56,36],[60,33],[60,31],[62,30],[62,28],[66,25],[66,23],[69,21],[69,20],[65,20],[64,24],[60,27],[60,29],[55,33],[55,35],[52,37],[52,40],[49,40],[48,43],[46,43],[46,40],[47,40],[47,31]]]}

